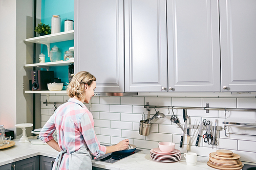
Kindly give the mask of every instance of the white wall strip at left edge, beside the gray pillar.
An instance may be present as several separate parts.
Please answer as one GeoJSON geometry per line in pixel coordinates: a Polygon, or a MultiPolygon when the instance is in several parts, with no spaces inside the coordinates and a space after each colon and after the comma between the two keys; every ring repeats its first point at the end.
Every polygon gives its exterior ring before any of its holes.
{"type": "Polygon", "coordinates": [[[0,1],[0,124],[16,124],[16,1],[0,1]]]}

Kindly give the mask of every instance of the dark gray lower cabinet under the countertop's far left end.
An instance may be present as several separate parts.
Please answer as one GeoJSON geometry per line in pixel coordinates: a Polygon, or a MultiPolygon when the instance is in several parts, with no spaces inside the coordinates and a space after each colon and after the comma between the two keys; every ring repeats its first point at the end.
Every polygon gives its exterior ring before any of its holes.
{"type": "Polygon", "coordinates": [[[0,166],[0,170],[39,170],[39,156],[0,166]]]}

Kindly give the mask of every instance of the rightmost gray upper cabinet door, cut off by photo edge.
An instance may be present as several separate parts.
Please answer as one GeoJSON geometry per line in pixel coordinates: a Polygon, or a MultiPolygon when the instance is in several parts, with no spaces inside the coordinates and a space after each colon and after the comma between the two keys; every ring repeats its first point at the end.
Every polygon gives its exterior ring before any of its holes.
{"type": "Polygon", "coordinates": [[[220,0],[222,91],[256,91],[255,9],[256,1],[220,0]]]}

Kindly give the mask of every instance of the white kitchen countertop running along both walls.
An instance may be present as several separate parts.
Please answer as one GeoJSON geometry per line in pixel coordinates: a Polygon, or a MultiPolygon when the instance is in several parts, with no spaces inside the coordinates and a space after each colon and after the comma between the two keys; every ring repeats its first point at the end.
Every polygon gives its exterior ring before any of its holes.
{"type": "MultiPolygon", "coordinates": [[[[29,137],[30,140],[34,140],[35,137],[29,137]]],[[[13,147],[0,150],[0,166],[8,163],[16,162],[19,160],[27,159],[33,156],[42,155],[55,158],[58,154],[57,151],[52,149],[48,144],[45,145],[34,145],[31,142],[19,143],[18,139],[13,140],[16,144],[13,147]]],[[[186,165],[186,161],[182,154],[181,160],[173,163],[157,162],[150,158],[150,151],[143,150],[115,163],[106,163],[93,160],[93,166],[106,168],[106,169],[189,169],[189,170],[200,170],[200,169],[215,169],[207,165],[208,157],[198,156],[198,162],[196,166],[186,165]]]]}

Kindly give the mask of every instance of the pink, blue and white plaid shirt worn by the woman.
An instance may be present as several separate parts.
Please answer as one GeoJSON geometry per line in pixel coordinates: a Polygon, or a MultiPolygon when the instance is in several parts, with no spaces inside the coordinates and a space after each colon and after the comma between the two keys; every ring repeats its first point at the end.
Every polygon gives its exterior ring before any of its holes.
{"type": "MultiPolygon", "coordinates": [[[[94,159],[106,152],[106,147],[100,145],[95,135],[92,113],[76,99],[70,98],[57,108],[42,128],[39,138],[44,142],[52,140],[55,129],[59,148],[67,150],[68,154],[78,151],[84,144],[87,144],[94,159]]],[[[69,155],[63,155],[60,169],[69,169],[69,155]]]]}

